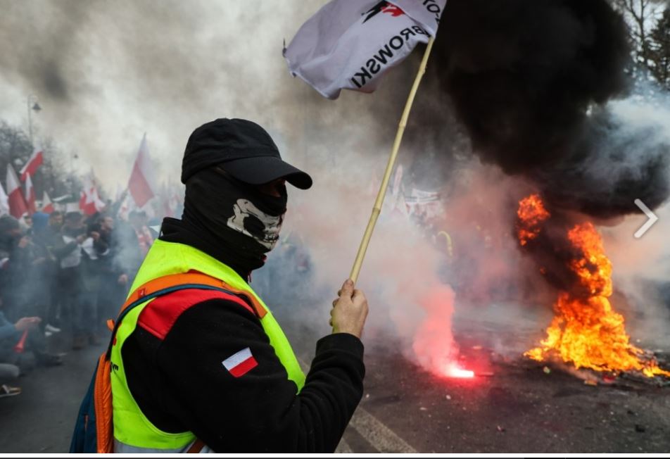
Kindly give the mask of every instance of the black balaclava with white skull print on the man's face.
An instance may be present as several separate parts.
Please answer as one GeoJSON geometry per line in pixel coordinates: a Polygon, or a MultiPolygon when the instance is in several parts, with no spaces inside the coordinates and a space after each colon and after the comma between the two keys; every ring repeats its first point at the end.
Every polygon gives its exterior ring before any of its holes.
{"type": "Polygon", "coordinates": [[[279,240],[286,200],[286,187],[281,196],[270,196],[208,168],[187,181],[182,220],[226,251],[236,267],[251,271],[263,266],[279,240]]]}

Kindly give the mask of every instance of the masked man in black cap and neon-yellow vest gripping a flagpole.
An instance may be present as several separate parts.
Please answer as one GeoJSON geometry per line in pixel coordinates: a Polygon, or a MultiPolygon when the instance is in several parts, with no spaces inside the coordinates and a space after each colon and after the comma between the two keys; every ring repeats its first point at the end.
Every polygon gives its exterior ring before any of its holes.
{"type": "Polygon", "coordinates": [[[201,287],[122,319],[111,351],[114,452],[333,452],[362,396],[365,296],[343,285],[333,334],[317,342],[305,378],[248,284],[279,239],[285,183],[308,189],[312,179],[282,161],[262,127],[220,119],[191,134],[182,182],[182,220],[163,221],[129,298],[157,282],[201,287]]]}

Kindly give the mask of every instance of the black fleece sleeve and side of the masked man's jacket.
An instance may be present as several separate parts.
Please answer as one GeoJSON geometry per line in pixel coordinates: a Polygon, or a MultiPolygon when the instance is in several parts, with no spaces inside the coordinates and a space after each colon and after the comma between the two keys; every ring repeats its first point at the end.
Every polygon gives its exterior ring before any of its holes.
{"type": "Polygon", "coordinates": [[[165,432],[194,432],[219,453],[333,452],[362,396],[362,355],[351,334],[320,339],[296,395],[258,318],[223,299],[192,306],[162,339],[139,322],[122,348],[129,389],[148,420],[165,432]],[[244,348],[258,366],[234,377],[222,360],[244,348]]]}

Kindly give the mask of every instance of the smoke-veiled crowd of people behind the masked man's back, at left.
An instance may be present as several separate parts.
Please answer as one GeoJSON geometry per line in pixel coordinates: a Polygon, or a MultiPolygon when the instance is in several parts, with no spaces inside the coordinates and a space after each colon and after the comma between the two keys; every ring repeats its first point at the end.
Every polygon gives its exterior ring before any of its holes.
{"type": "Polygon", "coordinates": [[[35,365],[63,365],[53,342],[76,352],[108,340],[156,238],[143,211],[117,214],[0,217],[0,398],[20,394],[16,379],[35,365]]]}

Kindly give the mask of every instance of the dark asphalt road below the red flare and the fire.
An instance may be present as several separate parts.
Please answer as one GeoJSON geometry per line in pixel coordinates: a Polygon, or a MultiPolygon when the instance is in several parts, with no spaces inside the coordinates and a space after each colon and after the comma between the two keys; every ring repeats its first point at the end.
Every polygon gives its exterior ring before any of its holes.
{"type": "Polygon", "coordinates": [[[525,363],[488,370],[444,379],[372,351],[361,407],[422,453],[670,451],[667,388],[588,386],[525,363]]]}

